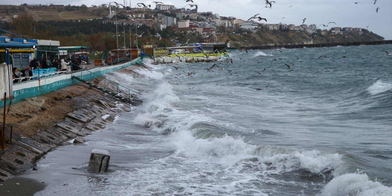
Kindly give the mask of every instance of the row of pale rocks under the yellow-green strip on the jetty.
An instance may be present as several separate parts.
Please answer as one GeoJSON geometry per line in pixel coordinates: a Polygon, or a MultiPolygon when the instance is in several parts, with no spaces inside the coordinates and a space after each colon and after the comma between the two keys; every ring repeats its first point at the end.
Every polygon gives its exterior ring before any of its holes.
{"type": "Polygon", "coordinates": [[[154,64],[165,64],[165,63],[194,63],[194,62],[211,62],[220,60],[221,56],[176,56],[176,57],[155,57],[154,64]]]}

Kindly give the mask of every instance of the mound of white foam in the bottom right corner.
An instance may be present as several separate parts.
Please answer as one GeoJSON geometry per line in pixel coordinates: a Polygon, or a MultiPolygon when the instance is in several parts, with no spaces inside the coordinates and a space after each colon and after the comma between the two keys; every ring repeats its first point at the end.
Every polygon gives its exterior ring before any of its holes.
{"type": "Polygon", "coordinates": [[[367,174],[344,174],[332,179],[320,196],[391,196],[392,188],[372,181],[367,174]]]}

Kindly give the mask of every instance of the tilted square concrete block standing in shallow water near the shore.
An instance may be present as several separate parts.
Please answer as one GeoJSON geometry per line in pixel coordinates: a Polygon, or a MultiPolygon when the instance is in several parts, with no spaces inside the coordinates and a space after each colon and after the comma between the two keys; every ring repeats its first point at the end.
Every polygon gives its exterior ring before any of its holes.
{"type": "Polygon", "coordinates": [[[109,151],[93,149],[93,151],[91,151],[89,168],[87,171],[93,173],[107,172],[107,168],[109,167],[109,160],[109,151]]]}

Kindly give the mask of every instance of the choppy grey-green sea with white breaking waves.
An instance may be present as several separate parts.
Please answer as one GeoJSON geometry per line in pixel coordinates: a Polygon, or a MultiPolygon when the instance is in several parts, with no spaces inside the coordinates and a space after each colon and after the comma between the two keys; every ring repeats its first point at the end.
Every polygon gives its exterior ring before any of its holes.
{"type": "Polygon", "coordinates": [[[391,196],[392,56],[381,50],[392,45],[145,59],[139,78],[109,74],[143,105],[47,154],[37,167],[53,182],[35,195],[391,196]],[[93,148],[111,152],[109,172],[86,172],[93,148]]]}

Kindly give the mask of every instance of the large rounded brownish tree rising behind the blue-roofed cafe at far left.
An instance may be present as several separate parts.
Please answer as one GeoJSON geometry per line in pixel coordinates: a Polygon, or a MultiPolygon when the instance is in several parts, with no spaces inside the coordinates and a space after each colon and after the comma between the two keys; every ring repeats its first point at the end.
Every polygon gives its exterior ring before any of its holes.
{"type": "Polygon", "coordinates": [[[28,38],[33,37],[34,29],[37,27],[37,23],[34,18],[28,14],[21,14],[18,18],[15,18],[11,23],[15,27],[18,34],[24,35],[28,38]]]}

